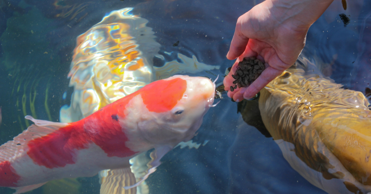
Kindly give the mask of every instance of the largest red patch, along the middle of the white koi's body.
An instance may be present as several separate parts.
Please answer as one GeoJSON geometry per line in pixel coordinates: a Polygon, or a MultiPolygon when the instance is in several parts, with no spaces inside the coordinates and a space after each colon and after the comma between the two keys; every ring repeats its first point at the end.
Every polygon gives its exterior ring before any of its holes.
{"type": "Polygon", "coordinates": [[[75,152],[89,147],[94,142],[101,147],[108,157],[128,157],[136,152],[125,146],[128,140],[119,122],[112,119],[118,115],[124,119],[125,105],[137,94],[132,94],[111,103],[102,111],[70,123],[51,134],[28,142],[27,154],[40,166],[47,168],[65,167],[66,164],[75,164],[75,152]],[[115,122],[113,122],[113,120],[115,122]]]}

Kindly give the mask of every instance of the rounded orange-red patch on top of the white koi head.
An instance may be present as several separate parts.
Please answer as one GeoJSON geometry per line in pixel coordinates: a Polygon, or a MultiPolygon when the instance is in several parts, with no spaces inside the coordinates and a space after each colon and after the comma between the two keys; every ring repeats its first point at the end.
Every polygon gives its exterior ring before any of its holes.
{"type": "Polygon", "coordinates": [[[158,80],[144,86],[141,96],[149,111],[166,112],[177,105],[186,89],[187,81],[181,78],[158,80]]]}

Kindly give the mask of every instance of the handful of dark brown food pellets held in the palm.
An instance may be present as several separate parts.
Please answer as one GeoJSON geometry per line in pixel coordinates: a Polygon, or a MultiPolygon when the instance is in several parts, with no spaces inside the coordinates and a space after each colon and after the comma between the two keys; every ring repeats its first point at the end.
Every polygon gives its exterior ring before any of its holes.
{"type": "Polygon", "coordinates": [[[232,75],[232,77],[236,79],[233,83],[237,83],[237,85],[230,87],[231,92],[233,92],[234,89],[237,89],[237,86],[238,88],[246,88],[249,86],[257,77],[259,77],[264,69],[265,66],[263,62],[256,59],[256,57],[245,57],[238,63],[236,72],[232,75]]]}

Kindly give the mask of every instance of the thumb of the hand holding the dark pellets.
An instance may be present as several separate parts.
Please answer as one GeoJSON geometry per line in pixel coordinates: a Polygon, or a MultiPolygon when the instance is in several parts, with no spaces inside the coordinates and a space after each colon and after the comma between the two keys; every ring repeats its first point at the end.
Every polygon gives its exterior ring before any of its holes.
{"type": "Polygon", "coordinates": [[[239,19],[237,20],[229,52],[227,53],[227,59],[233,60],[240,56],[245,51],[248,42],[249,38],[241,31],[241,20],[239,19]]]}

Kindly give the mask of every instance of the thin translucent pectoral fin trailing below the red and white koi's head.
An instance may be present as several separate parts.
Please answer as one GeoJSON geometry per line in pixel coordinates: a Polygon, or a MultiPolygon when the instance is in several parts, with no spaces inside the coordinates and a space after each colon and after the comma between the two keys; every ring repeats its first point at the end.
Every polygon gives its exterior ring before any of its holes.
{"type": "Polygon", "coordinates": [[[155,172],[157,170],[157,167],[160,166],[161,164],[161,158],[164,157],[164,155],[169,152],[171,149],[173,149],[172,146],[170,145],[163,145],[163,146],[160,146],[160,147],[157,147],[155,148],[155,151],[151,153],[151,158],[153,158],[152,162],[150,163],[150,166],[152,168],[150,168],[150,170],[148,170],[147,174],[145,174],[143,176],[143,178],[138,181],[136,184],[134,185],[131,185],[131,186],[126,186],[126,187],[123,187],[125,190],[128,190],[128,189],[131,189],[131,188],[134,188],[134,187],[138,187],[144,180],[146,180],[148,178],[148,176],[150,174],[152,174],[153,172],[155,172]]]}

